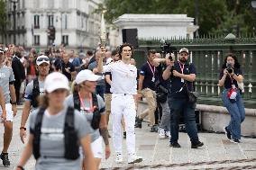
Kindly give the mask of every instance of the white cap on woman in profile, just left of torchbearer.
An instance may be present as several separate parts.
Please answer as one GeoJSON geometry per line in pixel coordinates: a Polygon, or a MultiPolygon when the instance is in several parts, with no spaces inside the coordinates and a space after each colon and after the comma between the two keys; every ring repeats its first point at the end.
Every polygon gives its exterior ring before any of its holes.
{"type": "Polygon", "coordinates": [[[95,75],[91,70],[84,69],[78,73],[76,76],[75,82],[77,84],[81,84],[84,81],[97,81],[101,78],[101,76],[95,75]]]}

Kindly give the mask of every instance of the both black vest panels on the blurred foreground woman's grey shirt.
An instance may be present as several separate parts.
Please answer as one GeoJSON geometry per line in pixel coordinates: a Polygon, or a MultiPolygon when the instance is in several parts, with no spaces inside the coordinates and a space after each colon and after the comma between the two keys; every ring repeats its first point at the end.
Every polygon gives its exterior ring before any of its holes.
{"type": "MultiPolygon", "coordinates": [[[[40,140],[41,140],[41,121],[43,118],[45,109],[41,108],[37,114],[34,128],[34,139],[33,139],[33,156],[35,159],[41,157],[40,154],[40,140]]],[[[64,143],[65,143],[65,154],[64,157],[71,160],[76,160],[79,157],[79,142],[78,134],[75,130],[74,123],[74,108],[69,107],[64,125],[64,143]]]]}

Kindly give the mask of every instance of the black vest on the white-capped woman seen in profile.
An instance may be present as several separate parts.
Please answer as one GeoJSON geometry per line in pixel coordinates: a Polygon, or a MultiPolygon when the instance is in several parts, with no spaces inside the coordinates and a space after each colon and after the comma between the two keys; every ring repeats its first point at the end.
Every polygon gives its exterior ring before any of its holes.
{"type": "MultiPolygon", "coordinates": [[[[96,94],[93,95],[93,107],[94,107],[94,112],[93,112],[93,120],[91,122],[91,127],[96,130],[99,128],[99,122],[100,122],[100,112],[98,109],[98,102],[97,102],[97,97],[96,94]]],[[[78,93],[73,94],[73,101],[74,101],[74,108],[77,109],[78,111],[81,111],[81,103],[80,103],[80,98],[78,93]]]]}

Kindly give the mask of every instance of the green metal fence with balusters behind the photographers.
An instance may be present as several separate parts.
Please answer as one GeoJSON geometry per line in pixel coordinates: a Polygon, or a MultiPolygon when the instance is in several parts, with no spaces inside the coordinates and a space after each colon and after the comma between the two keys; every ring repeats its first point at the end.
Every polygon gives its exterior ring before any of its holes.
{"type": "MultiPolygon", "coordinates": [[[[166,40],[176,49],[189,49],[190,62],[197,67],[196,90],[201,94],[198,103],[223,105],[222,88],[218,86],[219,74],[225,54],[232,51],[242,65],[244,76],[245,107],[256,108],[256,38],[206,37],[202,39],[166,40]],[[253,68],[254,67],[254,68],[253,68]]],[[[140,40],[134,52],[137,67],[146,61],[148,49],[160,49],[160,40],[140,40]]],[[[174,51],[177,58],[177,51],[174,51]]]]}

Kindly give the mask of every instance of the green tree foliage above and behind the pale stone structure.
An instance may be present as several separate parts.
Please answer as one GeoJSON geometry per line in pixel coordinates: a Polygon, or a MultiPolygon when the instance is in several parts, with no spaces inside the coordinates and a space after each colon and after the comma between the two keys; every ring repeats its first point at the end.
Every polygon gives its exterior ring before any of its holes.
{"type": "Polygon", "coordinates": [[[186,13],[198,18],[199,34],[251,32],[256,27],[256,10],[243,0],[105,0],[107,22],[123,13],[186,13]]]}

